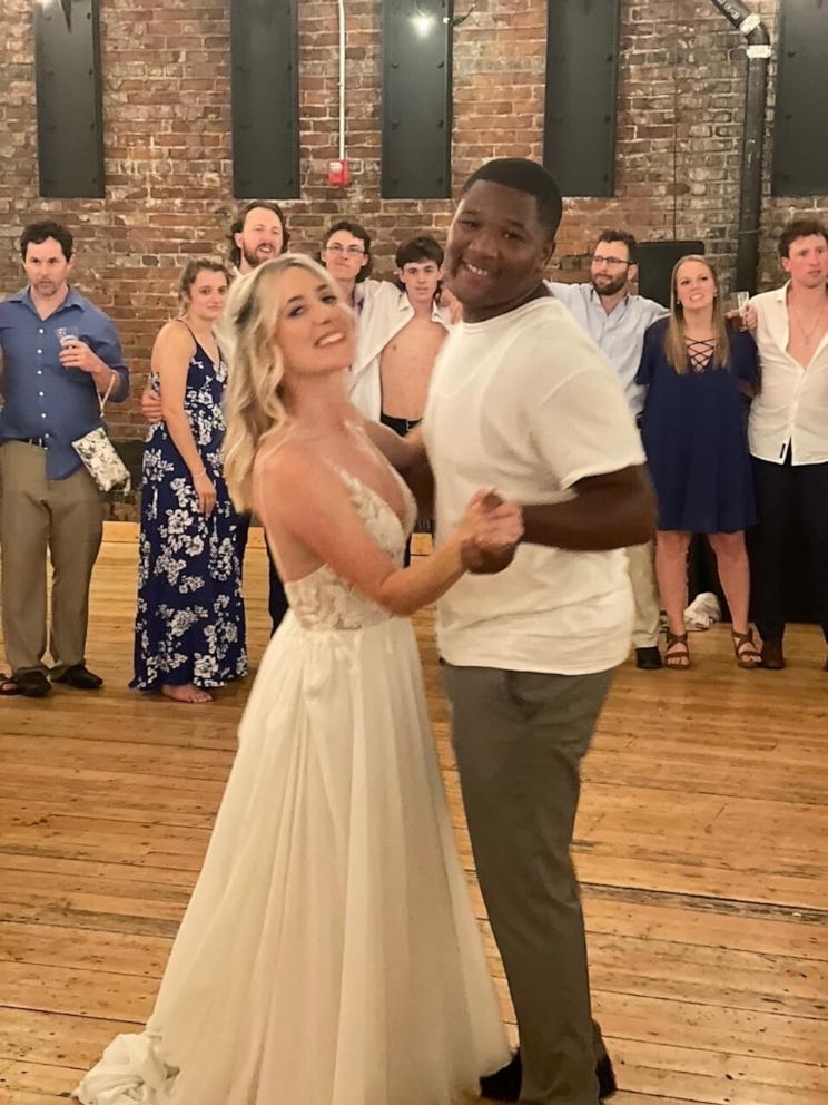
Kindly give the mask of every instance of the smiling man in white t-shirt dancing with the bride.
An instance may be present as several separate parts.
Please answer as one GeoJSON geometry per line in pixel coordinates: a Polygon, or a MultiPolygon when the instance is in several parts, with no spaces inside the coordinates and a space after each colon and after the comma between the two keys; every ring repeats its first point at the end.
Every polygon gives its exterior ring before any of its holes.
{"type": "Polygon", "coordinates": [[[546,170],[521,158],[489,162],[466,183],[446,247],[464,321],[441,351],[423,423],[437,540],[480,487],[525,505],[513,561],[440,600],[437,640],[521,1038],[482,1092],[526,1105],[595,1105],[614,1089],[591,1017],[570,844],[580,761],[630,646],[623,549],[654,526],[615,373],[542,283],[561,206],[546,170]]]}

